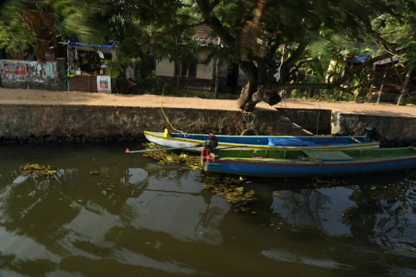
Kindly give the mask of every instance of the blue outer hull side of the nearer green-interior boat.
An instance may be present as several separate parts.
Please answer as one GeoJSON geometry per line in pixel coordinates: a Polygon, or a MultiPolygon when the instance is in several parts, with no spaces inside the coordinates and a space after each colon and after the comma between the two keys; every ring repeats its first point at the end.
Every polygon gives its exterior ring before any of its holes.
{"type": "Polygon", "coordinates": [[[389,161],[336,163],[262,163],[257,161],[205,161],[209,172],[259,177],[329,177],[391,172],[416,168],[416,157],[389,161]]]}

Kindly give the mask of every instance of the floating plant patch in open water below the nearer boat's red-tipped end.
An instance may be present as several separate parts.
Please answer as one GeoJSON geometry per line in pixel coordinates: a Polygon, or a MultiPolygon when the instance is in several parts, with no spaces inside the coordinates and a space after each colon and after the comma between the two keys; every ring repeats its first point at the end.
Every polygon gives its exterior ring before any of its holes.
{"type": "MultiPolygon", "coordinates": [[[[236,211],[251,211],[246,205],[257,199],[254,190],[246,191],[241,186],[243,180],[239,178],[223,177],[207,173],[200,176],[199,181],[204,184],[205,190],[211,190],[214,194],[223,195],[227,202],[236,206],[236,211]]],[[[256,214],[256,212],[252,212],[252,214],[256,214]]]]}

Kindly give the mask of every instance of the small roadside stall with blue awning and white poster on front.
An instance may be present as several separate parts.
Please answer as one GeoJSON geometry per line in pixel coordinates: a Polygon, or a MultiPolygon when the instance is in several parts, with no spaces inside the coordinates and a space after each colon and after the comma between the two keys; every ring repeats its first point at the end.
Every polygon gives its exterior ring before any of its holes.
{"type": "Polygon", "coordinates": [[[114,44],[67,42],[68,90],[112,93],[115,79],[107,73],[106,61],[116,59],[114,44]]]}

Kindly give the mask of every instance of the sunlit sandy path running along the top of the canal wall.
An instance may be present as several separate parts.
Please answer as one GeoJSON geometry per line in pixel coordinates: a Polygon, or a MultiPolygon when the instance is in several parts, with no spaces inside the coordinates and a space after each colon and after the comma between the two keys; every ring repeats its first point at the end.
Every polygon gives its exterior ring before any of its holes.
{"type": "MultiPolygon", "coordinates": [[[[154,95],[117,95],[104,93],[84,93],[68,91],[39,91],[27,89],[0,88],[1,104],[37,104],[37,105],[99,105],[128,107],[177,107],[198,109],[238,110],[236,100],[214,100],[201,98],[181,98],[154,95]]],[[[331,109],[358,114],[374,114],[380,116],[416,116],[416,107],[393,104],[358,104],[356,102],[311,102],[286,100],[273,107],[261,102],[257,109],[274,109],[288,107],[294,109],[331,109]]]]}

